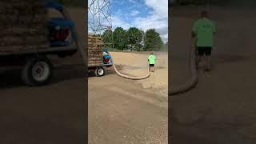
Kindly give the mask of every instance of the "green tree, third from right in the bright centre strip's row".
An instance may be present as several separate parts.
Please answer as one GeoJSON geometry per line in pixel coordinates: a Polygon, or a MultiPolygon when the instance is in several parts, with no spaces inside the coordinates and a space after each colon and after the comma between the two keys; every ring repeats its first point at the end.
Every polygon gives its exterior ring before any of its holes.
{"type": "Polygon", "coordinates": [[[114,48],[118,50],[127,49],[127,38],[126,30],[123,30],[122,27],[117,27],[113,32],[114,48]]]}

